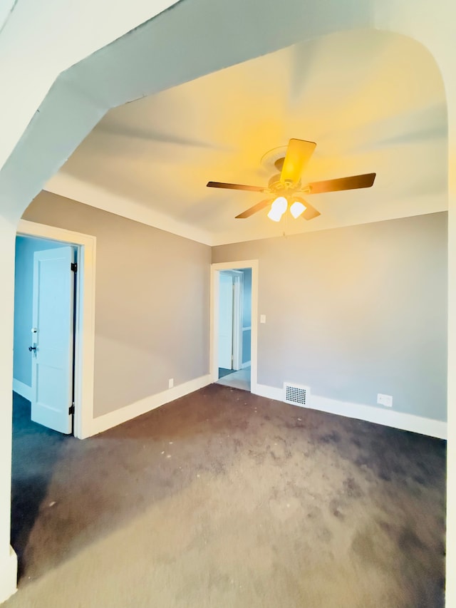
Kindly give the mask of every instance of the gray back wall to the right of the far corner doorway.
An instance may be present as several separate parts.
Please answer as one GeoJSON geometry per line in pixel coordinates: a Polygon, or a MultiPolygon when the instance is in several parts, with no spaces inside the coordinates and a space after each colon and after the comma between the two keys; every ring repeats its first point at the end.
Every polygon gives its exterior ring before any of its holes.
{"type": "Polygon", "coordinates": [[[259,259],[259,383],[446,420],[445,212],[212,249],[237,259],[259,259]]]}

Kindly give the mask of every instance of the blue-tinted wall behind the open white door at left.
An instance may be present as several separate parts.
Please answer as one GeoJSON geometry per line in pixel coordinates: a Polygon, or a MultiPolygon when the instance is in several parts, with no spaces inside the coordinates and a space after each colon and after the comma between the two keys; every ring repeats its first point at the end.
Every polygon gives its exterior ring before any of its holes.
{"type": "Polygon", "coordinates": [[[33,254],[62,244],[46,239],[16,237],[14,267],[14,359],[13,376],[31,386],[31,327],[33,314],[33,254]]]}

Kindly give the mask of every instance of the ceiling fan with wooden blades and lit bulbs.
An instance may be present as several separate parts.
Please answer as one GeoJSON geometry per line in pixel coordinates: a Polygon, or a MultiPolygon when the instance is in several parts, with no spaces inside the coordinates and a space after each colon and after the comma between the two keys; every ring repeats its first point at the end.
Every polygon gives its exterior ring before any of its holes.
{"type": "Polygon", "coordinates": [[[300,139],[291,139],[286,148],[283,158],[278,158],[274,165],[280,172],[273,175],[267,187],[247,186],[242,184],[227,184],[224,182],[207,182],[209,188],[227,188],[228,190],[249,190],[251,192],[266,192],[271,195],[257,205],[239,213],[236,219],[242,220],[254,213],[261,211],[264,207],[271,205],[268,217],[274,222],[279,222],[282,215],[290,208],[291,215],[304,217],[304,220],[313,220],[320,212],[312,207],[299,195],[321,194],[323,192],[338,192],[339,190],[355,190],[356,188],[369,188],[375,180],[375,173],[364,173],[363,175],[352,175],[351,177],[340,177],[336,180],[324,180],[323,182],[301,183],[301,173],[314,153],[316,143],[300,139]]]}

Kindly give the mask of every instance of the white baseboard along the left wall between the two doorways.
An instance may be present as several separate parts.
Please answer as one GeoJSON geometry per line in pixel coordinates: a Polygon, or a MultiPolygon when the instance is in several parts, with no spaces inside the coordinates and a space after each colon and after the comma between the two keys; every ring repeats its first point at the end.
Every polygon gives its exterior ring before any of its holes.
{"type": "Polygon", "coordinates": [[[150,395],[140,399],[140,401],[130,403],[128,406],[104,414],[103,416],[98,416],[98,418],[93,418],[91,432],[85,437],[96,435],[97,433],[103,433],[103,431],[108,431],[108,428],[113,428],[114,426],[118,426],[119,424],[132,420],[137,416],[141,416],[144,413],[155,410],[155,408],[159,408],[160,406],[165,405],[165,403],[169,403],[170,401],[184,397],[185,395],[193,393],[199,388],[203,388],[203,386],[207,386],[210,383],[211,376],[209,374],[207,374],[207,376],[200,376],[199,378],[195,378],[189,382],[179,384],[178,386],[173,386],[173,388],[168,388],[167,391],[163,391],[162,393],[150,395]]]}

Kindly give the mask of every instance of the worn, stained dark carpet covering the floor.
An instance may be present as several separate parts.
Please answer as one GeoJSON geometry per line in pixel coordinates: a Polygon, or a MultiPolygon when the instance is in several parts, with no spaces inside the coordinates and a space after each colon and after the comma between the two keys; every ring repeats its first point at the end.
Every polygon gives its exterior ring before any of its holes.
{"type": "Polygon", "coordinates": [[[443,441],[217,384],[84,441],[27,408],[7,608],[443,606],[443,441]]]}

